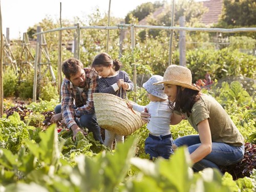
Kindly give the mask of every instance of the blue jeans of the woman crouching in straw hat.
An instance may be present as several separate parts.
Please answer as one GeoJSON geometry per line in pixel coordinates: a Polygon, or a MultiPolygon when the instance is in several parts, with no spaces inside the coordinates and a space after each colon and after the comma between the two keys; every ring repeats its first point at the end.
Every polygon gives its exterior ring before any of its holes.
{"type": "MultiPolygon", "coordinates": [[[[200,145],[199,135],[188,135],[174,140],[179,146],[187,145],[189,154],[193,153],[200,145]]],[[[212,142],[211,153],[204,159],[195,163],[193,169],[197,172],[204,168],[211,167],[220,170],[218,165],[226,166],[236,164],[244,157],[244,145],[232,146],[226,143],[212,142]]]]}

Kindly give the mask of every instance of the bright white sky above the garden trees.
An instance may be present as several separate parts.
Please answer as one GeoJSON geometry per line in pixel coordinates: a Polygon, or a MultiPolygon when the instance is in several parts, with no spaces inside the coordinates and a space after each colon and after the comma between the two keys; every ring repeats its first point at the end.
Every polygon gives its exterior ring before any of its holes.
{"type": "MultiPolygon", "coordinates": [[[[125,18],[125,15],[138,5],[156,0],[111,0],[111,16],[125,18]]],[[[161,1],[161,0],[160,0],[161,1]]],[[[2,13],[2,29],[6,35],[9,28],[10,39],[19,38],[29,27],[39,23],[46,16],[59,19],[61,2],[61,18],[84,17],[99,8],[108,13],[109,0],[0,0],[2,13]]]]}

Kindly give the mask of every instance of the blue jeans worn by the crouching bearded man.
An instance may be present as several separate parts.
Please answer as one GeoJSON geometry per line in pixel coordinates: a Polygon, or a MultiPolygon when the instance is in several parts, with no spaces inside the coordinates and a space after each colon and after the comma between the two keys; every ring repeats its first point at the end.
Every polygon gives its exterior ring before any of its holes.
{"type": "MultiPolygon", "coordinates": [[[[54,112],[57,113],[61,113],[61,104],[58,104],[55,109],[54,112]]],[[[97,122],[97,118],[96,118],[96,114],[86,114],[86,115],[82,115],[80,118],[75,118],[76,124],[79,127],[83,127],[83,128],[87,128],[88,132],[92,132],[93,133],[93,137],[95,140],[99,141],[101,144],[103,144],[103,140],[100,134],[100,126],[98,125],[97,122]]]]}

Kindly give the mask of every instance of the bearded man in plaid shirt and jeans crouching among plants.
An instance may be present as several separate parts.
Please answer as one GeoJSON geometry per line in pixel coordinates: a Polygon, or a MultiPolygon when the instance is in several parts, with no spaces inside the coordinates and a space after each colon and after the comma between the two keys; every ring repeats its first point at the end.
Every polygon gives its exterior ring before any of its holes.
{"type": "Polygon", "coordinates": [[[61,84],[61,105],[56,106],[51,122],[63,119],[73,131],[73,140],[78,132],[86,135],[83,128],[87,127],[94,139],[103,144],[93,104],[93,93],[98,92],[97,72],[83,68],[75,58],[64,61],[61,68],[65,75],[61,84]]]}

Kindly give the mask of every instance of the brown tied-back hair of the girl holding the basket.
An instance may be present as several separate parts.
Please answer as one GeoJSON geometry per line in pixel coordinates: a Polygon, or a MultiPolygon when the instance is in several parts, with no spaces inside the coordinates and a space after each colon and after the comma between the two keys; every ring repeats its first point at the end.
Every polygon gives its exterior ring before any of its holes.
{"type": "Polygon", "coordinates": [[[115,71],[118,71],[122,65],[119,60],[113,60],[108,53],[100,53],[94,58],[92,68],[96,66],[109,67],[112,66],[112,64],[115,71]]]}

